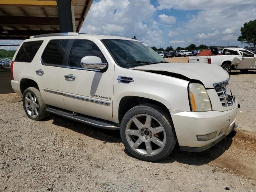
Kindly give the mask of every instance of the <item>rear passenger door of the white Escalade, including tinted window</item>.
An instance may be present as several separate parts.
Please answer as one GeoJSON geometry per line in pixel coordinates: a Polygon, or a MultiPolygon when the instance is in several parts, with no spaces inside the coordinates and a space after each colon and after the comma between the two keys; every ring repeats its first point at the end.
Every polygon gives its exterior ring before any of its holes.
{"type": "Polygon", "coordinates": [[[46,42],[42,56],[38,58],[35,79],[47,105],[66,109],[62,96],[62,77],[67,65],[68,39],[53,39],[46,42]]]}

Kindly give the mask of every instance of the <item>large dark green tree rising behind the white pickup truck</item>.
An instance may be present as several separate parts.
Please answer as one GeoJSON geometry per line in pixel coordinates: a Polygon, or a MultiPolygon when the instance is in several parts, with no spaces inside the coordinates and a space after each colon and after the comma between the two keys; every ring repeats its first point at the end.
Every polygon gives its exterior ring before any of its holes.
{"type": "Polygon", "coordinates": [[[241,43],[253,44],[256,46],[256,20],[244,23],[240,29],[241,35],[237,38],[241,43]]]}

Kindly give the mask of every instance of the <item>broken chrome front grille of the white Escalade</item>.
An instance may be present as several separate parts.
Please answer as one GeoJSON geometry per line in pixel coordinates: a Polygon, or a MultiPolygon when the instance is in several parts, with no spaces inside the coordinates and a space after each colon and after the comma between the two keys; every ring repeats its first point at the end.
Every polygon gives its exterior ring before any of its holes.
{"type": "Polygon", "coordinates": [[[235,97],[232,95],[232,92],[230,91],[231,95],[228,94],[228,91],[226,88],[228,83],[229,83],[229,80],[213,84],[214,89],[216,90],[217,95],[220,98],[220,102],[223,107],[232,106],[235,102],[235,97]]]}

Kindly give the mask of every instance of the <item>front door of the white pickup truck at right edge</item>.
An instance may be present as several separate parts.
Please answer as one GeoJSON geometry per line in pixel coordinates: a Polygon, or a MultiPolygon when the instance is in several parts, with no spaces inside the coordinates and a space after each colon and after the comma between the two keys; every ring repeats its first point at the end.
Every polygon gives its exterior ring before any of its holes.
{"type": "Polygon", "coordinates": [[[254,54],[248,51],[243,51],[243,57],[242,61],[236,68],[238,69],[256,69],[255,65],[256,58],[254,57],[254,54]]]}

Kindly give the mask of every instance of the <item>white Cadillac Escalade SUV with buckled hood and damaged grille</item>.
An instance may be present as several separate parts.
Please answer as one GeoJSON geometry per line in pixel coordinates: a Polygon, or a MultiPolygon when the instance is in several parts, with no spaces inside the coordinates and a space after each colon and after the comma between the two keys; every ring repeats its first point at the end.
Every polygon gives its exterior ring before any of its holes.
{"type": "Polygon", "coordinates": [[[120,130],[136,158],[199,152],[234,130],[238,102],[217,65],[167,63],[143,42],[77,33],[32,36],[16,51],[12,88],[27,116],[52,113],[120,130]]]}

